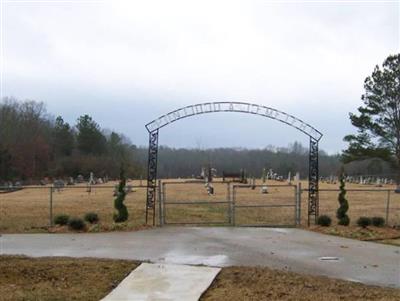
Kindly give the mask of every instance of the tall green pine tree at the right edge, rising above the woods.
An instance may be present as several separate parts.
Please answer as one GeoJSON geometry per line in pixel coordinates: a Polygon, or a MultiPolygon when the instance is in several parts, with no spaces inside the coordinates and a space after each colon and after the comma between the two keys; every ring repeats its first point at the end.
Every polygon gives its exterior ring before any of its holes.
{"type": "Polygon", "coordinates": [[[376,66],[364,89],[363,106],[350,114],[358,133],[344,138],[343,162],[379,158],[393,168],[400,190],[400,53],[376,66]]]}

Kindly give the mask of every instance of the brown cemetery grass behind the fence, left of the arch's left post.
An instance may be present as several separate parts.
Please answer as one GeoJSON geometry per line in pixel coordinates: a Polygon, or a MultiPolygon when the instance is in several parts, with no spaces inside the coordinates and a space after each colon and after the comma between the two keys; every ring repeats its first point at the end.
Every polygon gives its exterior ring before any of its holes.
{"type": "MultiPolygon", "coordinates": [[[[145,223],[146,190],[136,189],[126,196],[129,219],[122,226],[114,225],[114,186],[100,188],[93,186],[90,193],[86,186],[66,187],[60,192],[53,192],[53,217],[68,214],[82,217],[87,212],[96,212],[100,218],[99,230],[124,230],[141,227],[145,223]]],[[[0,194],[0,231],[1,232],[43,232],[50,224],[50,189],[24,188],[23,190],[0,194]]],[[[89,228],[89,227],[88,227],[89,228]]],[[[59,231],[60,229],[51,229],[59,231]]]]}

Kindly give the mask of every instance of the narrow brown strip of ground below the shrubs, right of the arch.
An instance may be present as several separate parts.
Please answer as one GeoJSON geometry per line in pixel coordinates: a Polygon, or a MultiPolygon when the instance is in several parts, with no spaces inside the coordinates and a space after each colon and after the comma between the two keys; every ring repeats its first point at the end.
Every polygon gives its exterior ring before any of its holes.
{"type": "Polygon", "coordinates": [[[396,240],[400,238],[400,229],[392,227],[370,226],[367,228],[361,228],[356,226],[345,227],[335,225],[331,227],[313,226],[307,228],[307,230],[346,238],[353,238],[364,241],[375,241],[394,245],[398,244],[392,243],[392,241],[396,242],[396,240]]]}

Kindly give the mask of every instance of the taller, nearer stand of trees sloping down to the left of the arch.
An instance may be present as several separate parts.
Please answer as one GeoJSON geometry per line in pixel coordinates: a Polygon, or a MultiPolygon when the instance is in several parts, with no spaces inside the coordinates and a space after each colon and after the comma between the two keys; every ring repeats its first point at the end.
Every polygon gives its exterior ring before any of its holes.
{"type": "Polygon", "coordinates": [[[142,171],[134,161],[135,148],[87,114],[70,125],[48,114],[42,102],[4,98],[0,103],[0,182],[90,172],[117,178],[121,165],[128,176],[137,177],[142,171]]]}

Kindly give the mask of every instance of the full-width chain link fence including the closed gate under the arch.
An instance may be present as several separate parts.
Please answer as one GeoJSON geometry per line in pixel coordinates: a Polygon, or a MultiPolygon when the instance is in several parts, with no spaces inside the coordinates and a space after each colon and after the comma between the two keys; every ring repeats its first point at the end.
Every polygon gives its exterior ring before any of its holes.
{"type": "MultiPolygon", "coordinates": [[[[128,183],[132,191],[124,201],[130,227],[145,224],[146,186],[128,183]]],[[[116,183],[115,183],[116,185],[116,183]]],[[[113,230],[115,185],[75,185],[57,189],[26,186],[13,192],[1,189],[0,232],[43,232],[58,214],[83,217],[95,212],[101,230],[113,230]]],[[[307,225],[307,189],[296,185],[234,185],[213,183],[208,194],[204,182],[162,182],[156,206],[158,225],[307,225]]],[[[355,225],[360,216],[380,216],[388,226],[400,225],[400,194],[394,189],[346,189],[348,215],[355,225]]],[[[339,189],[319,190],[319,214],[336,222],[339,189]]]]}

